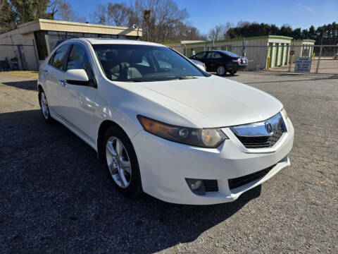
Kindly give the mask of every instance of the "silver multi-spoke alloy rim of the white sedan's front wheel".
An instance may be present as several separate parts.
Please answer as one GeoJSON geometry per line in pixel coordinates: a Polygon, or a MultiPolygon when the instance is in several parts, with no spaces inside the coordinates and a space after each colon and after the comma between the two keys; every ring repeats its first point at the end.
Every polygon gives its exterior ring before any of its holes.
{"type": "Polygon", "coordinates": [[[130,157],[122,141],[116,137],[108,138],[106,143],[106,161],[113,181],[120,188],[127,188],[132,179],[130,157]]]}

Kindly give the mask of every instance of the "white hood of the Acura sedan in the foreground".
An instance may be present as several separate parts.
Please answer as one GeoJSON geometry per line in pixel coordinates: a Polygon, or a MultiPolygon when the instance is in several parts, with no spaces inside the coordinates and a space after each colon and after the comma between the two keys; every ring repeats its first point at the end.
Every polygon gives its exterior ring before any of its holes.
{"type": "Polygon", "coordinates": [[[215,75],[120,84],[151,102],[139,103],[139,99],[130,97],[132,103],[128,107],[135,107],[137,114],[187,127],[226,127],[264,121],[283,107],[279,100],[261,90],[215,75]]]}

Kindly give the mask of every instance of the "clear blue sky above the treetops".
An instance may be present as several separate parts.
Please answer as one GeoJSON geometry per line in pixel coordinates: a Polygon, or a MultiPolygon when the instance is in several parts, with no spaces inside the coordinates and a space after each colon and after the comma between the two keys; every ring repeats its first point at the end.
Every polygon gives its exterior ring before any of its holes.
{"type": "MultiPolygon", "coordinates": [[[[125,2],[131,0],[68,0],[79,16],[90,21],[89,14],[96,4],[108,1],[125,2]]],[[[309,28],[311,25],[338,23],[338,0],[299,0],[299,1],[261,1],[261,0],[176,0],[180,8],[187,8],[188,21],[203,34],[215,25],[227,22],[237,24],[240,20],[292,28],[309,28]]]]}

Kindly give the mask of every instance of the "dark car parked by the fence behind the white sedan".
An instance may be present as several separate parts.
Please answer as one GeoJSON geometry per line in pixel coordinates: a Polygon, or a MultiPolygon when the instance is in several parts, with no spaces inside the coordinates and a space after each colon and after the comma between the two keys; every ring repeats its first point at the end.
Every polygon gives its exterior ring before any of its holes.
{"type": "Polygon", "coordinates": [[[248,68],[248,59],[225,50],[210,50],[198,52],[191,59],[201,61],[206,65],[206,71],[217,72],[218,75],[230,73],[234,75],[237,71],[248,68]]]}

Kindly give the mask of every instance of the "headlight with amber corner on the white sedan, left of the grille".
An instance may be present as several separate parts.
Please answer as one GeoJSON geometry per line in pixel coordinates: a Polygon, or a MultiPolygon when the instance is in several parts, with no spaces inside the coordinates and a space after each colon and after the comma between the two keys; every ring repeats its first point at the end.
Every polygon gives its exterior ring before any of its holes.
{"type": "Polygon", "coordinates": [[[215,148],[228,139],[220,128],[187,128],[162,123],[145,116],[137,118],[145,131],[177,143],[215,148]]]}

